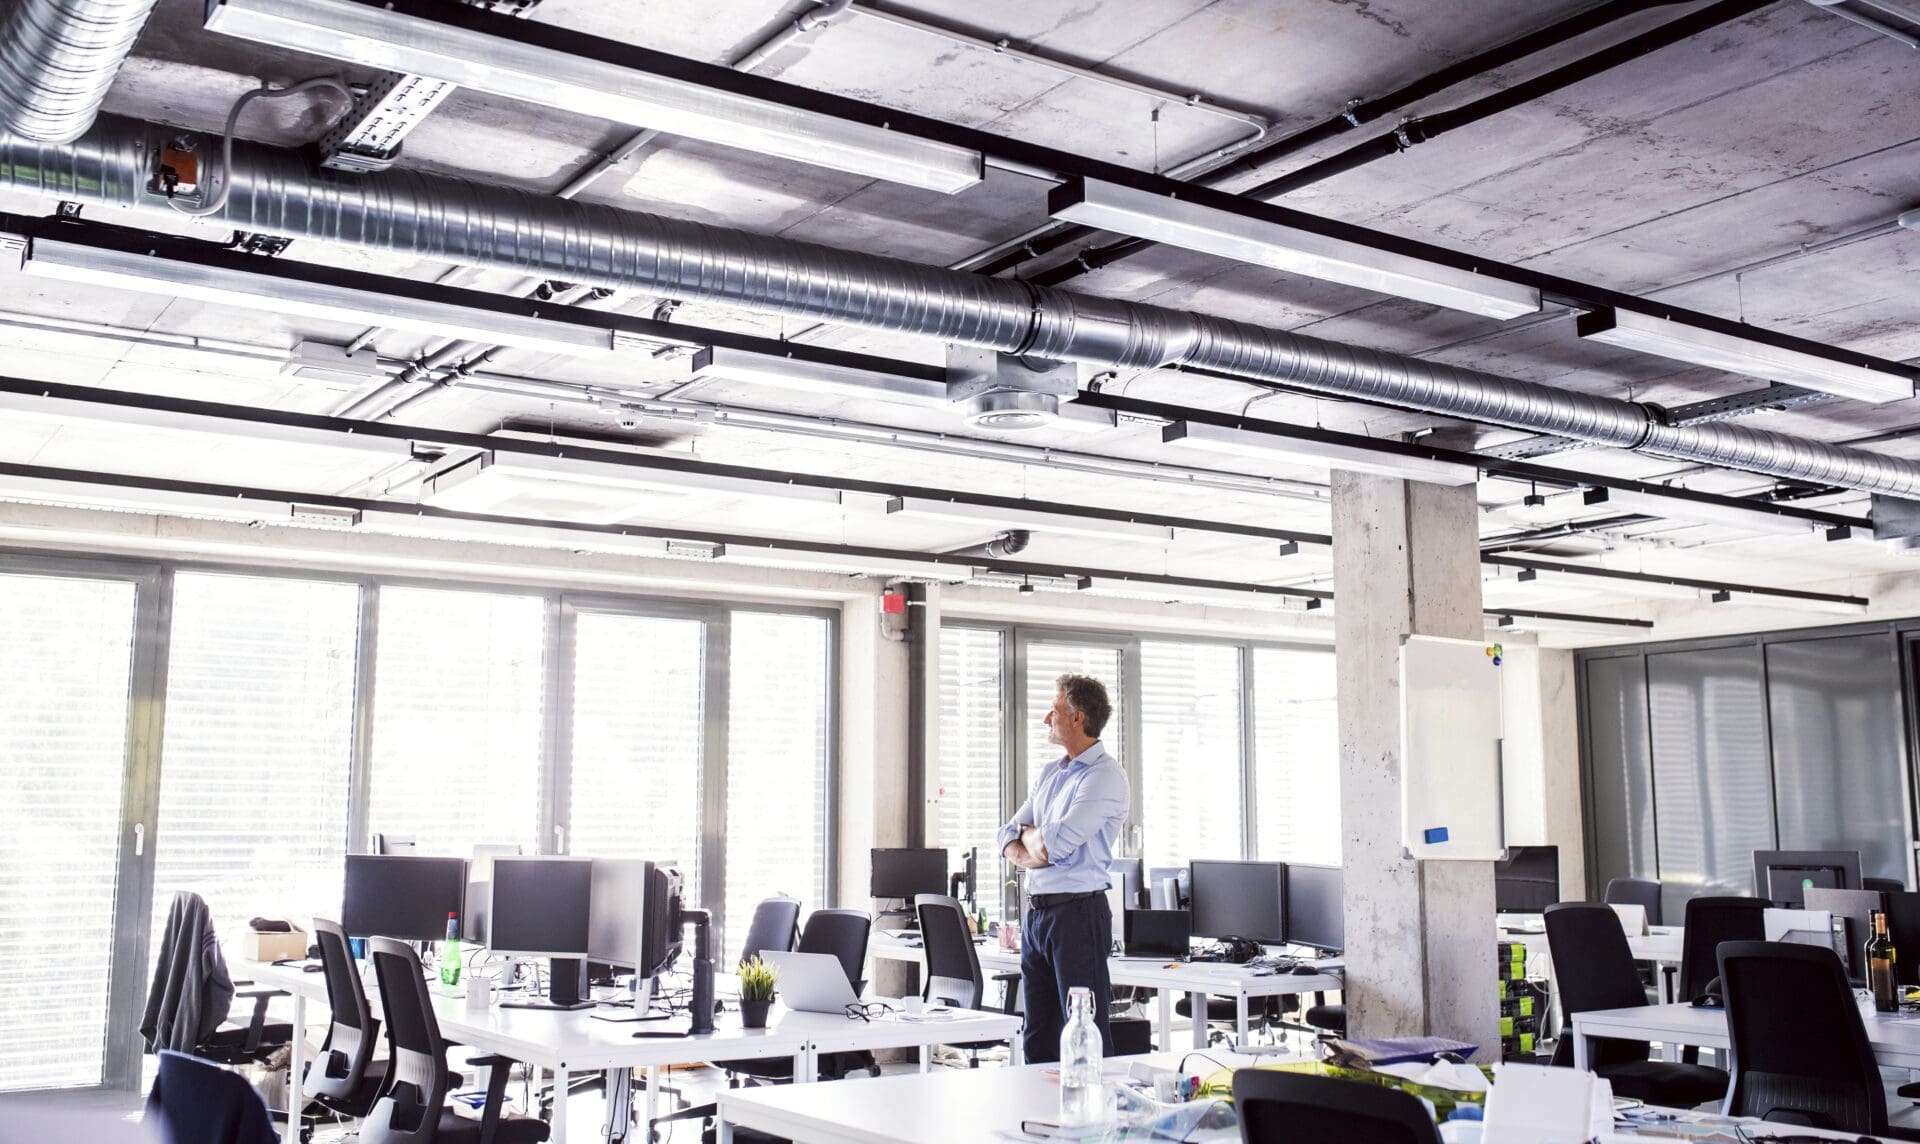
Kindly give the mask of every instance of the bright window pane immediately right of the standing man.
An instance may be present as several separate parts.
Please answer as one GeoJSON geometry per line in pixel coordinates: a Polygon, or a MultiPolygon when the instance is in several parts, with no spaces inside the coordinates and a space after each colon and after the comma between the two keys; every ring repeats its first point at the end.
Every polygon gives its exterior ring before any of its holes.
{"type": "Polygon", "coordinates": [[[1238,858],[1240,649],[1142,643],[1140,737],[1146,864],[1238,858]]]}

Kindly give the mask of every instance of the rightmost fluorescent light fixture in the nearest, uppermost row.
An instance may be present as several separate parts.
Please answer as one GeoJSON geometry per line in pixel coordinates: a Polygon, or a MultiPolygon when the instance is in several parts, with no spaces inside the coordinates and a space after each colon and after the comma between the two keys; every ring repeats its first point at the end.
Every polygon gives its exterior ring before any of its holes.
{"type": "Polygon", "coordinates": [[[1818,390],[1855,401],[1905,401],[1914,395],[1912,378],[1872,370],[1864,365],[1836,361],[1801,349],[1768,346],[1740,334],[1705,330],[1688,322],[1645,315],[1630,309],[1596,309],[1576,322],[1582,338],[1638,349],[1655,357],[1724,369],[1749,378],[1764,378],[1784,386],[1818,390]]]}

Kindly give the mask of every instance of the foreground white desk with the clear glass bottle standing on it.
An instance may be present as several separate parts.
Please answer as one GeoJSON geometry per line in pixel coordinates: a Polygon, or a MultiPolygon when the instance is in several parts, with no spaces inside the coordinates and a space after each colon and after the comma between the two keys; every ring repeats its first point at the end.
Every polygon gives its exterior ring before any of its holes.
{"type": "MultiPolygon", "coordinates": [[[[1225,1065],[1254,1058],[1208,1054],[1225,1065]]],[[[1179,1065],[1181,1054],[1114,1058],[1108,1079],[1123,1079],[1133,1061],[1179,1065]]],[[[1277,1060],[1277,1058],[1265,1058],[1277,1060]]],[[[1212,1071],[1213,1065],[1206,1065],[1212,1071]]],[[[795,1144],[952,1144],[1018,1132],[1020,1121],[1060,1119],[1060,1071],[1054,1065],[1010,1069],[937,1069],[808,1088],[728,1088],[720,1094],[720,1142],[733,1129],[756,1129],[795,1144]]],[[[1233,1136],[1238,1140],[1238,1134],[1233,1136]]]]}

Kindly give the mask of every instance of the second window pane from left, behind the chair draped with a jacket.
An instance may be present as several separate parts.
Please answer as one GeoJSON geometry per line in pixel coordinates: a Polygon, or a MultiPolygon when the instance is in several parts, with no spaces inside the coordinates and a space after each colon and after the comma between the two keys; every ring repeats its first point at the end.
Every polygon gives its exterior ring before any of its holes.
{"type": "Polygon", "coordinates": [[[221,937],[340,916],[357,633],[353,584],[175,576],[152,956],[175,891],[221,937]]]}

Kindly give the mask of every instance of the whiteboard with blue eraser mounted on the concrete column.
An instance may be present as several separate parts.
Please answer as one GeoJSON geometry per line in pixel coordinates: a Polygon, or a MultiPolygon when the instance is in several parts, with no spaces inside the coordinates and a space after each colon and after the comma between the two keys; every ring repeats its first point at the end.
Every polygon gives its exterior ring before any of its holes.
{"type": "Polygon", "coordinates": [[[1507,848],[1500,791],[1500,645],[1400,645],[1400,823],[1413,858],[1488,862],[1507,848]]]}

